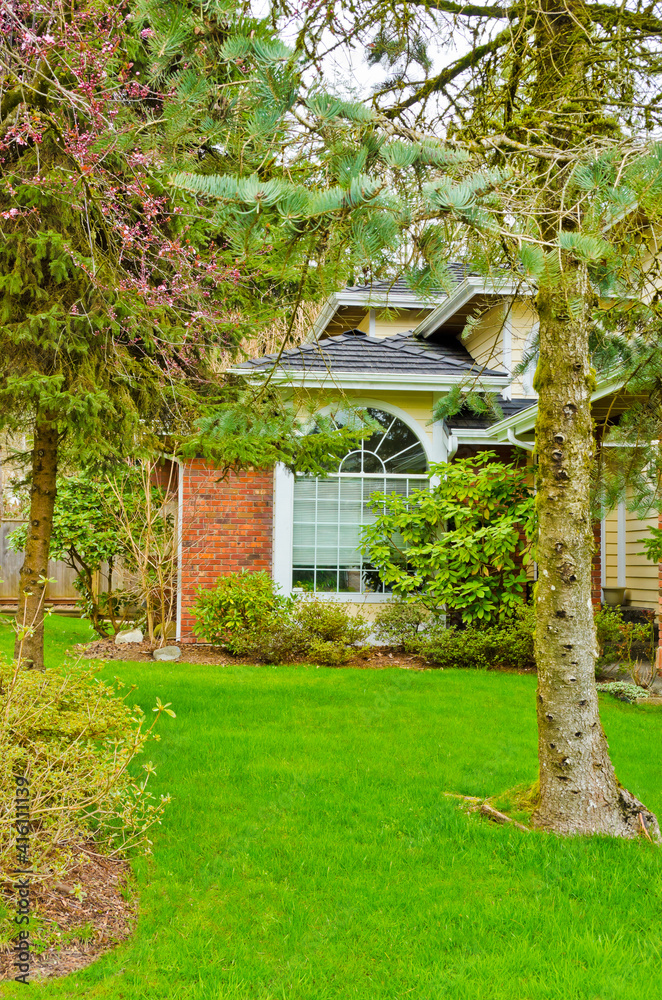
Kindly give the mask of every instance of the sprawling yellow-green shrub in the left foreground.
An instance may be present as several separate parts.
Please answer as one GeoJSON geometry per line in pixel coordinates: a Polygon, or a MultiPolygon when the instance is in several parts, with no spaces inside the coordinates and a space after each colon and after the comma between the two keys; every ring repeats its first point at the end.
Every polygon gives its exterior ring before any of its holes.
{"type": "Polygon", "coordinates": [[[16,866],[14,798],[17,779],[29,788],[30,864],[36,877],[62,879],[72,863],[68,847],[91,837],[98,851],[126,854],[149,848],[167,797],[146,785],[153,767],[130,766],[154,725],[129,707],[118,686],[101,681],[100,665],[27,670],[0,661],[0,873],[16,866]]]}

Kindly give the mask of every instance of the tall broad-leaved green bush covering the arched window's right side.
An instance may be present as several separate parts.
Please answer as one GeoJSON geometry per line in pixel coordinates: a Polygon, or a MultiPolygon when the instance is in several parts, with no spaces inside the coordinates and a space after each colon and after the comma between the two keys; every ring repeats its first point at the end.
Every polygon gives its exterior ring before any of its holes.
{"type": "Polygon", "coordinates": [[[512,615],[526,598],[534,500],[527,471],[482,452],[432,469],[430,490],[373,494],[364,551],[384,583],[468,624],[512,615]]]}

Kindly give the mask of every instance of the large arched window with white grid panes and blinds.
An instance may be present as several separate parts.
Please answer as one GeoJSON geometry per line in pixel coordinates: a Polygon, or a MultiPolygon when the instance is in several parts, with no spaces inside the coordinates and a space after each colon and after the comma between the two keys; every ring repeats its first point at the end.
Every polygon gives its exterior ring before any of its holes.
{"type": "MultiPolygon", "coordinates": [[[[428,486],[425,449],[399,417],[376,407],[367,413],[378,429],[348,452],[326,479],[294,481],[293,590],[316,593],[384,593],[377,571],[361,554],[361,528],[374,520],[375,493],[428,486]]],[[[337,413],[337,426],[349,417],[337,413]]]]}

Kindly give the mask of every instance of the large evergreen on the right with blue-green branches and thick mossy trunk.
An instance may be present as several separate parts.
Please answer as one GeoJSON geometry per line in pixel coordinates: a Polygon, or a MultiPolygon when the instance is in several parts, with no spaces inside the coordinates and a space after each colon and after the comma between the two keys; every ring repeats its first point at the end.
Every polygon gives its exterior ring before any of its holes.
{"type": "Polygon", "coordinates": [[[389,273],[390,264],[425,289],[444,284],[459,252],[475,270],[514,276],[533,299],[535,820],[563,833],[632,836],[643,816],[656,831],[616,780],[595,692],[590,338],[616,316],[631,330],[628,302],[646,296],[645,237],[662,193],[660,152],[646,148],[659,114],[657,5],[365,0],[337,18],[327,3],[303,16],[282,9],[302,23],[293,53],[267,53],[250,36],[224,50],[253,81],[252,134],[272,151],[268,170],[246,178],[210,166],[177,183],[215,205],[233,239],[277,232],[281,261],[305,253],[306,237],[333,217],[325,261],[338,265],[336,277],[343,263],[367,274],[389,273]],[[435,72],[425,30],[443,45],[458,25],[466,50],[435,72]],[[329,28],[333,44],[343,31],[345,41],[363,37],[374,58],[395,67],[372,113],[329,97],[317,81],[305,85],[303,69],[319,65],[329,28]],[[422,81],[412,81],[412,66],[422,81]],[[314,168],[305,185],[301,164],[314,168]]]}

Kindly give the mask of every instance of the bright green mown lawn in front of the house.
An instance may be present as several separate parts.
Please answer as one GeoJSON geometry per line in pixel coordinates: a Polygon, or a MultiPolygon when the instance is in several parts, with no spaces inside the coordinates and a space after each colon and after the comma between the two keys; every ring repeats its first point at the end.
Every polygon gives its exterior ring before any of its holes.
{"type": "MultiPolygon", "coordinates": [[[[66,628],[49,622],[51,634],[66,628]]],[[[660,1000],[662,855],[467,819],[536,774],[535,678],[113,663],[164,719],[174,801],[135,937],[40,998],[660,1000]]],[[[662,712],[603,702],[662,814],[662,712]]],[[[23,987],[6,987],[23,996],[23,987]]]]}

